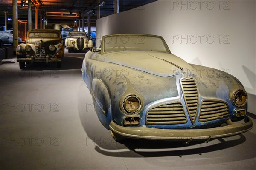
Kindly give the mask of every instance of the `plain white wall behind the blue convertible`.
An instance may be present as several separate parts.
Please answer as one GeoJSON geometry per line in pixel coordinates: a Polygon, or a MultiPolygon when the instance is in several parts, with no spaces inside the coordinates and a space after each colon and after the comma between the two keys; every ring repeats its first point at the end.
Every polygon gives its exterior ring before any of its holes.
{"type": "Polygon", "coordinates": [[[256,1],[159,0],[96,20],[96,33],[96,47],[107,34],[163,36],[186,62],[238,78],[256,114],[256,1]]]}

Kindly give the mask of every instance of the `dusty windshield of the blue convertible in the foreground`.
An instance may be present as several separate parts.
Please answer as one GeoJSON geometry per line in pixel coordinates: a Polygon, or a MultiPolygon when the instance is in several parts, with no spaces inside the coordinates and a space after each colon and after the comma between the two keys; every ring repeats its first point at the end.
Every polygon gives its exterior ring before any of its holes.
{"type": "Polygon", "coordinates": [[[103,39],[104,52],[114,51],[160,51],[168,52],[162,37],[153,35],[109,35],[103,39]]]}

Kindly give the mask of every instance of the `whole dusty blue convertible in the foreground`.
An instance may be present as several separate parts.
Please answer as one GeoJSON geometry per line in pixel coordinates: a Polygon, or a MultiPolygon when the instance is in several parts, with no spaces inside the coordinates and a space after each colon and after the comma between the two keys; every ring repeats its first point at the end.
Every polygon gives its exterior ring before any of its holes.
{"type": "Polygon", "coordinates": [[[238,79],[188,64],[171,54],[163,37],[103,36],[102,48],[85,54],[81,71],[100,122],[117,140],[210,140],[253,126],[238,79]]]}

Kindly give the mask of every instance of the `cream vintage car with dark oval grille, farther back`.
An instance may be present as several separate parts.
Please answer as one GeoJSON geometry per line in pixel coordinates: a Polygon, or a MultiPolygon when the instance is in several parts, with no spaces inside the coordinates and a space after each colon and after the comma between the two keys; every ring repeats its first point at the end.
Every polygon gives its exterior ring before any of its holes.
{"type": "Polygon", "coordinates": [[[65,46],[69,53],[75,51],[84,52],[93,48],[93,41],[88,40],[85,32],[73,31],[68,34],[65,40],[65,46]]]}

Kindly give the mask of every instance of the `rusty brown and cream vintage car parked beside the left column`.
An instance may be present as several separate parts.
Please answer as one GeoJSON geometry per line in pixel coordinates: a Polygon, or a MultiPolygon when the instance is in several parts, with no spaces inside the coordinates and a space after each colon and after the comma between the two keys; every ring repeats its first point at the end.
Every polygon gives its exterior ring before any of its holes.
{"type": "Polygon", "coordinates": [[[20,69],[25,63],[57,62],[61,67],[61,59],[64,57],[64,46],[61,31],[55,29],[32,29],[27,32],[26,43],[16,48],[17,62],[20,69]]]}

